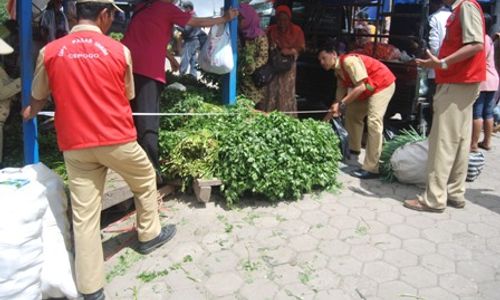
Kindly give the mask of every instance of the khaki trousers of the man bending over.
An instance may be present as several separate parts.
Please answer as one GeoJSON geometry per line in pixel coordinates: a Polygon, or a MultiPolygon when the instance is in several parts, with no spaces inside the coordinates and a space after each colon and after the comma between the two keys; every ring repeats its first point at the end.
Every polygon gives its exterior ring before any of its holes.
{"type": "Polygon", "coordinates": [[[378,174],[380,154],[382,153],[384,115],[391,101],[396,84],[393,83],[366,100],[356,100],[346,108],[346,129],[349,133],[349,148],[361,150],[364,118],[367,117],[368,139],[366,141],[363,170],[378,174]]]}

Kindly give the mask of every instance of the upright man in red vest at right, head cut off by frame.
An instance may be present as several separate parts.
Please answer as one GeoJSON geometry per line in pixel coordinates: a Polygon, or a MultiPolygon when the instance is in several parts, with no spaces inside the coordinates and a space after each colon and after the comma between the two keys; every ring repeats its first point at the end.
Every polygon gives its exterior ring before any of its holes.
{"type": "Polygon", "coordinates": [[[404,206],[443,212],[446,205],[465,206],[465,179],[472,128],[472,106],[486,79],[484,16],[476,0],[445,0],[453,10],[438,57],[417,64],[436,70],[434,116],[429,136],[427,186],[404,206]]]}

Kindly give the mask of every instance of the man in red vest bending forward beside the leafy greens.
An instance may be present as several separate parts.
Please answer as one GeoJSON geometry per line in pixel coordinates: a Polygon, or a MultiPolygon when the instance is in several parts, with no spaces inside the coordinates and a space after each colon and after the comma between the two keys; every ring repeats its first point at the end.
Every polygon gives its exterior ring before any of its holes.
{"type": "Polygon", "coordinates": [[[380,61],[361,54],[338,56],[333,43],[325,44],[318,59],[325,70],[334,70],[337,92],[330,120],[346,107],[346,129],[349,132],[349,149],[359,154],[367,117],[368,140],[362,168],[351,173],[361,179],[379,176],[379,159],[382,152],[384,115],[396,88],[396,78],[380,61]]]}

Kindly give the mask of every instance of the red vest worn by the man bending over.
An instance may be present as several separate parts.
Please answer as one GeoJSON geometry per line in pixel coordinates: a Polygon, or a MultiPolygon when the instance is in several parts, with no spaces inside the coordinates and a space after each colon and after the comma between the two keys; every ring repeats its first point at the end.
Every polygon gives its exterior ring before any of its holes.
{"type": "Polygon", "coordinates": [[[354,87],[351,77],[344,69],[344,60],[349,56],[357,56],[361,58],[363,64],[365,65],[366,72],[368,73],[368,78],[364,81],[366,89],[358,97],[358,100],[368,99],[373,94],[380,92],[396,81],[396,77],[392,74],[391,70],[389,70],[389,68],[380,61],[362,54],[347,54],[339,57],[340,69],[342,70],[342,75],[344,76],[342,83],[345,87],[354,87]]]}

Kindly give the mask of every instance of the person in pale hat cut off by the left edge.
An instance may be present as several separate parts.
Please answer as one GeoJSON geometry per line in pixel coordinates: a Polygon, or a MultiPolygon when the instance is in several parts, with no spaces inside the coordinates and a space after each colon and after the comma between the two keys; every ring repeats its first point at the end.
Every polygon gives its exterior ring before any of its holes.
{"type": "MultiPolygon", "coordinates": [[[[0,38],[0,55],[14,52],[3,39],[0,38]]],[[[12,79],[7,72],[0,67],[0,169],[3,168],[3,126],[10,113],[12,97],[21,91],[21,79],[12,79]]]]}

